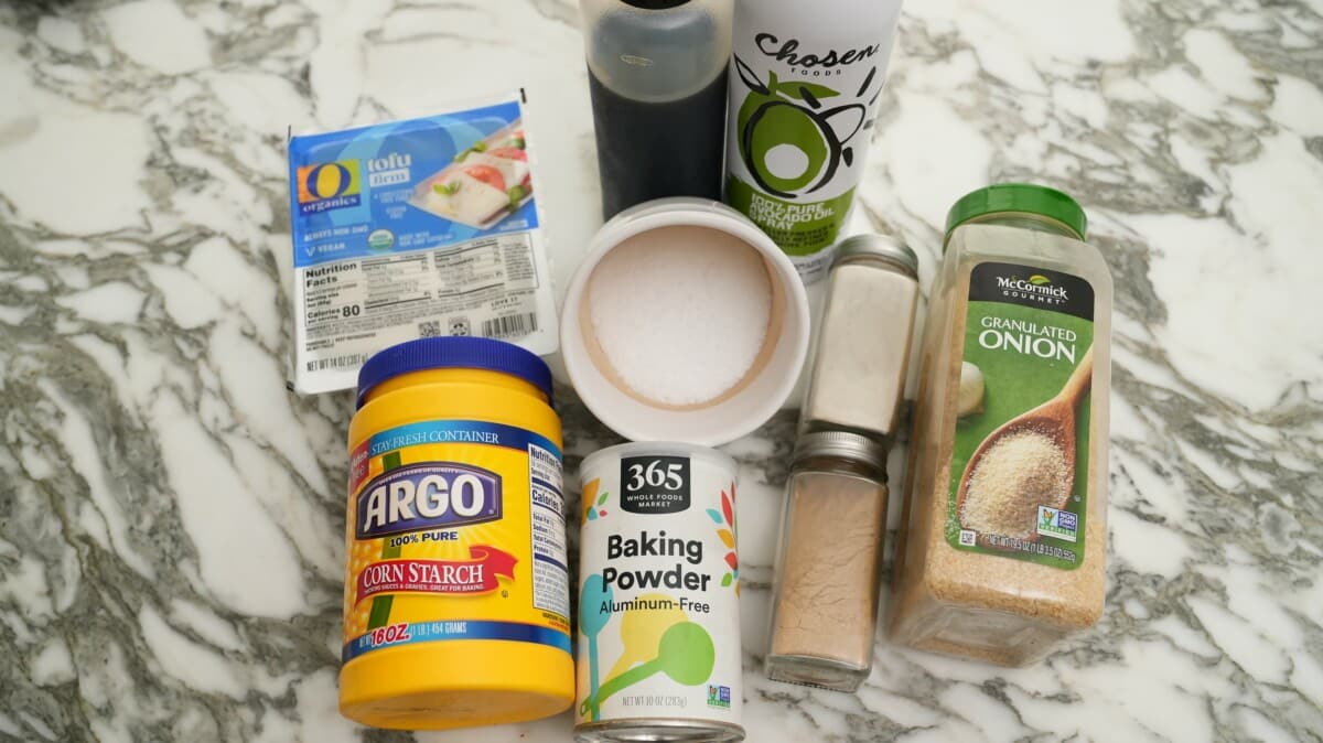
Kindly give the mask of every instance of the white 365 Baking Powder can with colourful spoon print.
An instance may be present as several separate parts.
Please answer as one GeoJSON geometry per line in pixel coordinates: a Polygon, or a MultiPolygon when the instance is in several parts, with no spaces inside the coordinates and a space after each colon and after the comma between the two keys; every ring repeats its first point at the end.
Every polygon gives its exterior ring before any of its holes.
{"type": "Polygon", "coordinates": [[[623,444],[579,480],[576,739],[742,740],[734,460],[623,444]]]}

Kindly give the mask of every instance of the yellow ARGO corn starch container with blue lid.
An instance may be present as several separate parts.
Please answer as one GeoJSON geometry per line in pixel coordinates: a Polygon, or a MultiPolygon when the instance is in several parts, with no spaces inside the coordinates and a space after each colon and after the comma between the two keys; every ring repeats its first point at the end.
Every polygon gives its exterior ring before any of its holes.
{"type": "Polygon", "coordinates": [[[561,423],[534,354],[392,346],[359,374],[340,711],[376,727],[541,718],[574,697],[561,423]]]}

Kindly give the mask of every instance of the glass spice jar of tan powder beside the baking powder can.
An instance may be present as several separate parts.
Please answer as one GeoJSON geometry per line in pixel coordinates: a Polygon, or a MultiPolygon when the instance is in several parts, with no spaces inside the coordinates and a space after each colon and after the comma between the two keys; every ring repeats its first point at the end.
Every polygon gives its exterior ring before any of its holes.
{"type": "Polygon", "coordinates": [[[763,672],[853,691],[873,665],[886,450],[843,431],[800,436],[786,484],[763,672]]]}

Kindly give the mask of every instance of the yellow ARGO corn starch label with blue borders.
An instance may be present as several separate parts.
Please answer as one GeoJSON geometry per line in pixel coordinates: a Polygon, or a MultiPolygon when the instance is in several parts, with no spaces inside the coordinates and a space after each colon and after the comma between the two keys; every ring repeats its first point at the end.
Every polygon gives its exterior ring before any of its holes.
{"type": "Polygon", "coordinates": [[[343,661],[414,643],[570,652],[561,452],[480,420],[398,426],[352,450],[343,661]]]}

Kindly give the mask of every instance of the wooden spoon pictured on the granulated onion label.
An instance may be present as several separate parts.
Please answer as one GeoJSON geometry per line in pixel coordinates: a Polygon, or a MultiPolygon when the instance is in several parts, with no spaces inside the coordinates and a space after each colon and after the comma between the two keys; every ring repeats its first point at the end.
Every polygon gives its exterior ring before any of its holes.
{"type": "MultiPolygon", "coordinates": [[[[1056,498],[1054,502],[1043,502],[1054,509],[1064,509],[1074,490],[1074,469],[1076,469],[1076,409],[1089,394],[1093,383],[1093,346],[1085,352],[1084,358],[1070,377],[1062,385],[1061,391],[1056,394],[1052,399],[1044,402],[1043,405],[1023,412],[1011,420],[1007,420],[1000,427],[988,434],[979,448],[974,451],[970,456],[970,461],[964,465],[964,473],[960,476],[960,489],[955,496],[955,513],[957,518],[964,518],[964,500],[968,494],[970,480],[972,479],[975,471],[983,463],[983,457],[1000,442],[1007,440],[1008,436],[1015,434],[1037,434],[1046,436],[1053,444],[1060,450],[1061,460],[1065,463],[1065,488],[1062,488],[1062,494],[1056,498]]],[[[1037,534],[1033,533],[1028,539],[1037,539],[1037,534]]]]}

